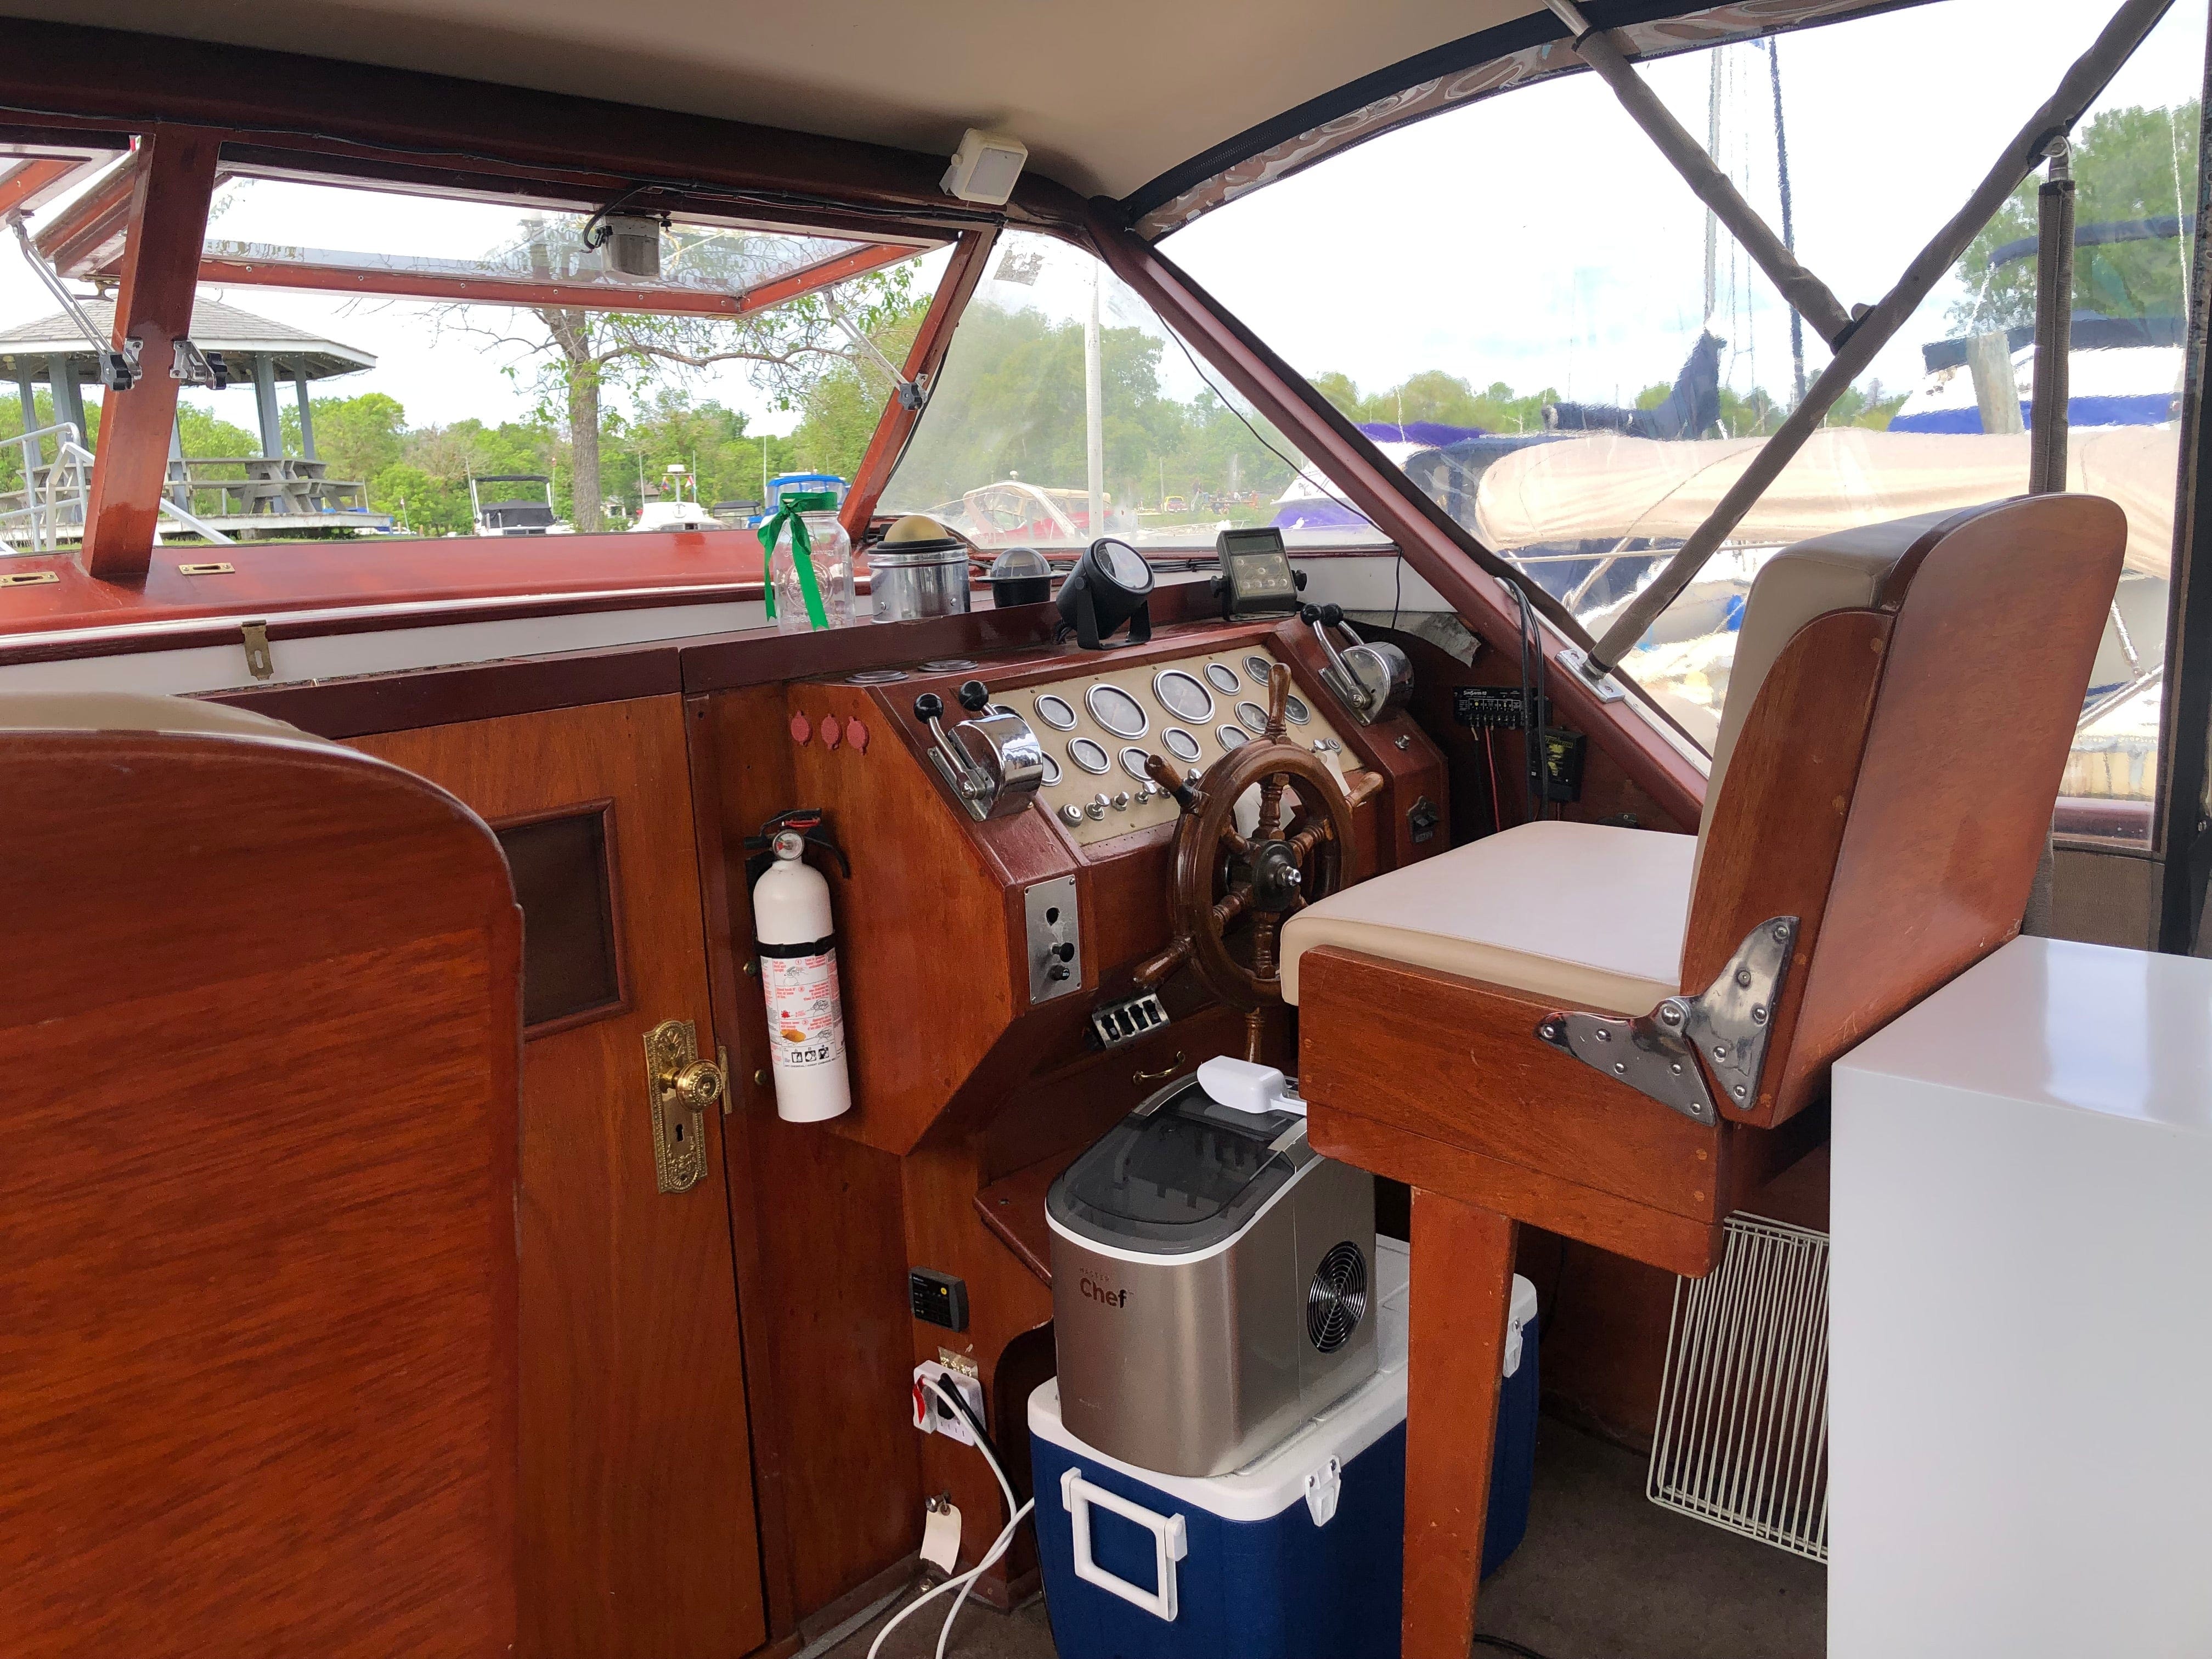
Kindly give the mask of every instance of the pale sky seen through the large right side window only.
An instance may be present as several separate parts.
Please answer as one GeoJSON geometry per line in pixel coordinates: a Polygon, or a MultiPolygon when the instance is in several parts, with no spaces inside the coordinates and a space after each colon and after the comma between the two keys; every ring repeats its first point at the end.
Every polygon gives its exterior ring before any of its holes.
{"type": "MultiPolygon", "coordinates": [[[[1880,299],[2110,11],[1942,0],[1781,35],[1801,261],[1845,305],[1880,299]]],[[[2205,2],[2177,0],[2099,108],[2194,97],[2203,42],[2205,2]]],[[[1721,62],[1721,161],[1778,228],[1765,49],[1721,62]]],[[[1697,137],[1710,64],[1686,53],[1641,69],[1697,137]]],[[[1444,367],[1475,387],[1610,403],[1672,380],[1703,321],[1705,210],[1595,75],[1405,126],[1217,208],[1164,250],[1301,372],[1338,369],[1360,389],[1444,367]]],[[[1787,310],[1741,254],[1734,283],[1728,265],[1723,252],[1730,383],[1787,400],[1787,310]]],[[[1871,374],[1907,389],[1920,345],[1955,332],[1953,299],[1947,281],[1871,374]]],[[[1807,336],[1807,372],[1825,361],[1807,336]]]]}

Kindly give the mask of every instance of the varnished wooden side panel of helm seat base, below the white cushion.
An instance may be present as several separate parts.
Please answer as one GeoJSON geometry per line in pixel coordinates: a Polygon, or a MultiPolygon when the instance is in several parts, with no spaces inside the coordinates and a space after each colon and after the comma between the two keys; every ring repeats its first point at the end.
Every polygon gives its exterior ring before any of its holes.
{"type": "Polygon", "coordinates": [[[1723,1135],[1540,1042],[1557,1002],[1336,947],[1307,951],[1298,975],[1316,1144],[1347,1113],[1630,1203],[1719,1214],[1723,1135]]]}

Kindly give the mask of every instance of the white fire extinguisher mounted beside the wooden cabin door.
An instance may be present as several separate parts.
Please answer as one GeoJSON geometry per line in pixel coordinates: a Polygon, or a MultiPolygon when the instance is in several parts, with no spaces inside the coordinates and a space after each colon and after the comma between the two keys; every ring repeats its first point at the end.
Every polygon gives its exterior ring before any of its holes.
{"type": "Polygon", "coordinates": [[[818,1124],[852,1110],[845,1071],[845,1006],[836,980],[836,925],[830,883],[807,865],[821,847],[849,876],[852,865],[818,810],[785,812],[748,836],[754,849],[752,931],[761,953],[761,1000],[768,1004],[768,1053],[776,1079],[776,1117],[818,1124]]]}

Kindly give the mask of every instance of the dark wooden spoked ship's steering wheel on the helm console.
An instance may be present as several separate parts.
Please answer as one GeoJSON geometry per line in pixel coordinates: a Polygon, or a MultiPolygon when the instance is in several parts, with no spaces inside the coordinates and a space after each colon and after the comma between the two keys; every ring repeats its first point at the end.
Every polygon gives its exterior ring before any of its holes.
{"type": "Polygon", "coordinates": [[[1267,1009],[1283,1000],[1276,945],[1283,918],[1343,887],[1352,810],[1383,787],[1376,772],[1338,781],[1334,768],[1283,737],[1290,668],[1267,672],[1267,728],[1230,750],[1197,783],[1152,754],[1152,783],[1172,794],[1175,830],[1168,918],[1175,942],[1137,967],[1150,991],[1186,962],[1245,1015],[1245,1060],[1259,1060],[1267,1009]],[[1259,785],[1259,823],[1237,830],[1237,801],[1259,785]]]}

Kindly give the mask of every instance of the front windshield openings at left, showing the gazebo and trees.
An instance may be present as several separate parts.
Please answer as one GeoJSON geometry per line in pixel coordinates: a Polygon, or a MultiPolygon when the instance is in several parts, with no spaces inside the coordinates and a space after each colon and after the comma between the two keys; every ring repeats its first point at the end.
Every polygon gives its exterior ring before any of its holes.
{"type": "MultiPolygon", "coordinates": [[[[31,228],[106,327],[119,237],[60,234],[73,201],[31,228]]],[[[945,263],[734,219],[226,175],[192,338],[228,385],[179,398],[164,540],[728,531],[719,551],[757,557],[748,526],[781,493],[843,498],[945,263]]],[[[84,533],[102,392],[66,321],[0,252],[4,551],[84,533]]]]}

